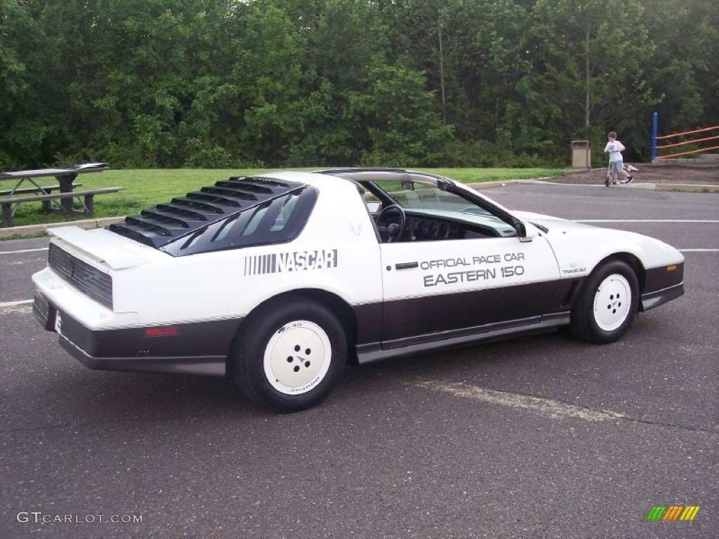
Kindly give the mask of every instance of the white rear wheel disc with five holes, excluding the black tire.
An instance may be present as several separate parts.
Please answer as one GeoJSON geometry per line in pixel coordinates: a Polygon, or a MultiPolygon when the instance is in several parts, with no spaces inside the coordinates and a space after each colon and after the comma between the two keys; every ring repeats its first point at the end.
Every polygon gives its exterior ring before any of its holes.
{"type": "Polygon", "coordinates": [[[324,379],[332,345],[324,329],[298,320],[278,329],[265,348],[265,377],[285,395],[301,395],[324,379]]]}

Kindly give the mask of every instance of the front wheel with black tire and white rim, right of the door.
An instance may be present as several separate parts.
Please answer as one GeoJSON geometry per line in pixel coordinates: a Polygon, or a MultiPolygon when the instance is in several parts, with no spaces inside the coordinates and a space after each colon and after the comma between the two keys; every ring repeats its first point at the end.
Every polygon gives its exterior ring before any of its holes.
{"type": "Polygon", "coordinates": [[[639,303],[634,270],[621,260],[600,264],[587,277],[572,309],[569,331],[582,341],[609,344],[631,326],[639,303]]]}

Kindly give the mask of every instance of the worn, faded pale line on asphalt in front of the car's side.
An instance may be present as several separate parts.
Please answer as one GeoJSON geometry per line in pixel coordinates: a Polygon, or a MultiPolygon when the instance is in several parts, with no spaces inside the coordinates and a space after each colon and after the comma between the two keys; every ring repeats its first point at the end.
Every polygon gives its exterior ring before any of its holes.
{"type": "Polygon", "coordinates": [[[585,421],[610,421],[627,418],[623,413],[613,412],[612,410],[592,410],[592,408],[572,405],[567,402],[562,402],[561,400],[490,390],[486,387],[467,384],[466,382],[448,384],[424,380],[416,382],[414,385],[423,387],[426,390],[449,393],[449,395],[454,395],[455,397],[464,397],[488,402],[493,405],[529,410],[551,419],[577,418],[585,421]]]}

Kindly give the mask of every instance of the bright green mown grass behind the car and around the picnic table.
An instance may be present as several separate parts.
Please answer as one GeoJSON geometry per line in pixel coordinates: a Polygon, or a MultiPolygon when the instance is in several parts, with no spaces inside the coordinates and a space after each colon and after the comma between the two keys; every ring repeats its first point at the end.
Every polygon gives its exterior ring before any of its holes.
{"type": "MultiPolygon", "coordinates": [[[[278,169],[147,169],[147,170],[106,170],[96,174],[78,175],[75,183],[82,183],[80,190],[104,187],[122,187],[120,193],[96,195],[95,216],[116,217],[133,215],[144,208],[165,203],[175,196],[197,190],[204,185],[226,180],[230,176],[252,175],[278,169]]],[[[300,169],[317,170],[317,167],[300,169]]],[[[452,178],[462,183],[485,183],[491,181],[527,180],[549,178],[562,174],[558,168],[421,168],[452,178]]],[[[5,186],[3,186],[4,188],[5,186]]],[[[62,213],[48,213],[40,203],[23,203],[13,218],[14,226],[60,223],[87,218],[66,216],[62,213]]]]}

